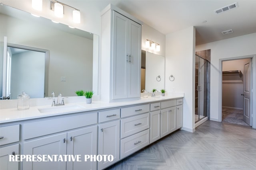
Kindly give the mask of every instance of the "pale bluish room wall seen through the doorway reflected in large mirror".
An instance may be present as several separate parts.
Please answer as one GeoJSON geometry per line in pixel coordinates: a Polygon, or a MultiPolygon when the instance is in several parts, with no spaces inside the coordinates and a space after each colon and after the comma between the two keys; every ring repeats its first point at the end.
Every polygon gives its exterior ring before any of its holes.
{"type": "Polygon", "coordinates": [[[11,99],[22,91],[30,98],[44,98],[44,56],[37,51],[12,55],[11,99]]]}

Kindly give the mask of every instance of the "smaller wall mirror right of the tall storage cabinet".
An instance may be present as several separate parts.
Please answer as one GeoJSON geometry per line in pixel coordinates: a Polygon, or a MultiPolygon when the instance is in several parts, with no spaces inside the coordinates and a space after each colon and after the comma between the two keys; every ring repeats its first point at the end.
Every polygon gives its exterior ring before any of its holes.
{"type": "Polygon", "coordinates": [[[164,89],[164,63],[165,58],[163,56],[142,50],[141,90],[145,89],[146,91],[151,92],[154,88],[158,91],[164,89]],[[143,57],[144,53],[146,54],[145,60],[143,57]],[[143,82],[145,82],[145,88],[143,88],[143,82]]]}

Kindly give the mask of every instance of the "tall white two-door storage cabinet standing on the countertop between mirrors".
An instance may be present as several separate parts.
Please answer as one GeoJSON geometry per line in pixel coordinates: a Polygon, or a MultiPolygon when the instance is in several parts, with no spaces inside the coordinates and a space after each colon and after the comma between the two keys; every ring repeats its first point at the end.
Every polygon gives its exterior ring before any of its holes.
{"type": "Polygon", "coordinates": [[[141,25],[112,4],[103,10],[101,100],[140,98],[141,25]]]}

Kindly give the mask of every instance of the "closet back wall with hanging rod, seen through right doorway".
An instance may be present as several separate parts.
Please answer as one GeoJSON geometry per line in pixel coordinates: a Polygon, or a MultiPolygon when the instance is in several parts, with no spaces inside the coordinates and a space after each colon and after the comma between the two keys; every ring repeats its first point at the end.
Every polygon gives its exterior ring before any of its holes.
{"type": "MultiPolygon", "coordinates": [[[[244,72],[244,64],[247,59],[223,61],[222,71],[240,70],[244,72]]],[[[226,75],[222,76],[222,106],[234,107],[238,109],[244,108],[243,93],[243,76],[226,75]]]]}

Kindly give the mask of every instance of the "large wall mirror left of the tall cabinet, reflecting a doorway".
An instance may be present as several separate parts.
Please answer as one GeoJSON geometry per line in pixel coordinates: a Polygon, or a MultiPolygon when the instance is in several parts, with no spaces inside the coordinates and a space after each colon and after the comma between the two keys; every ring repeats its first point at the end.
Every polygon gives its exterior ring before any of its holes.
{"type": "Polygon", "coordinates": [[[1,5],[0,97],[16,99],[22,91],[31,98],[97,94],[98,43],[98,35],[1,5]]]}

